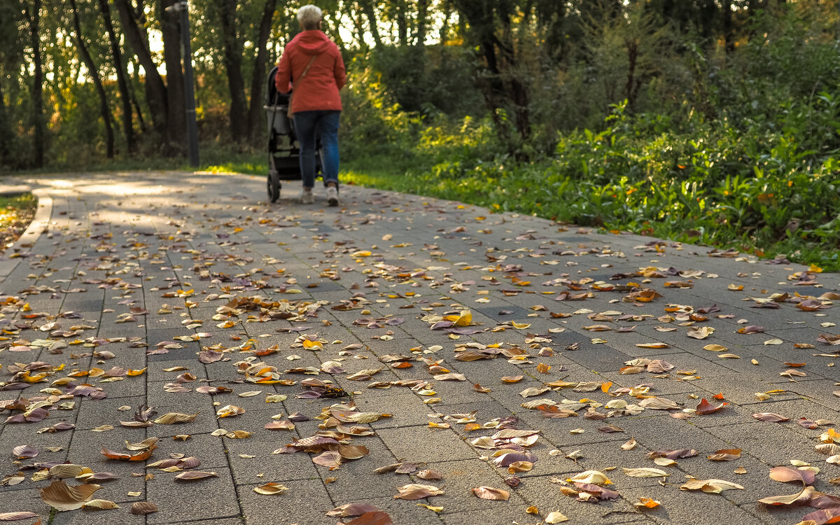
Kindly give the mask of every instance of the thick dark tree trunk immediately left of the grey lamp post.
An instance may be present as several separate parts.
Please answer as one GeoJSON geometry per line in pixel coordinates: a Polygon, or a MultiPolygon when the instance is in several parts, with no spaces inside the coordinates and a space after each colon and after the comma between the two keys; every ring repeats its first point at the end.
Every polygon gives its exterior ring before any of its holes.
{"type": "MultiPolygon", "coordinates": [[[[166,67],[165,155],[183,155],[186,151],[186,102],[184,102],[184,71],[181,69],[181,29],[178,24],[178,13],[165,10],[175,3],[176,0],[160,0],[158,3],[166,67]]],[[[190,60],[189,57],[186,60],[190,60]]]]}

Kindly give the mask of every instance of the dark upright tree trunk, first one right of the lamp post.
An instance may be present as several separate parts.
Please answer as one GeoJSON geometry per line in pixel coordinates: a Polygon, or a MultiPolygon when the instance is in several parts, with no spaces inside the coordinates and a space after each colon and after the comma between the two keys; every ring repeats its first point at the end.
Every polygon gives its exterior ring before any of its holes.
{"type": "Polygon", "coordinates": [[[242,42],[236,34],[236,1],[221,0],[219,8],[222,16],[219,23],[222,26],[223,62],[230,91],[230,134],[234,141],[242,142],[248,138],[249,129],[242,81],[242,42]]]}

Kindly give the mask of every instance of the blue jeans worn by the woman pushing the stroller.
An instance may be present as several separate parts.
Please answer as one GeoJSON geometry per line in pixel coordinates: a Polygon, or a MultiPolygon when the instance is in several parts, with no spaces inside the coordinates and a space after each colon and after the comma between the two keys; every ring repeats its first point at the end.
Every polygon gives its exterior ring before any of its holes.
{"type": "Polygon", "coordinates": [[[339,117],[340,111],[299,111],[294,114],[295,133],[301,144],[303,187],[315,186],[315,143],[321,139],[323,183],[339,186],[339,117]]]}

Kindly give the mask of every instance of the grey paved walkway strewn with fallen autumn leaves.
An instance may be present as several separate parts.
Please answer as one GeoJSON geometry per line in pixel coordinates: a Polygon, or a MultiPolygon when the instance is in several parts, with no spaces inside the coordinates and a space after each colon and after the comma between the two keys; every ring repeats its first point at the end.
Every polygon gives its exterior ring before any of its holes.
{"type": "Polygon", "coordinates": [[[352,186],[328,208],[289,184],[268,205],[256,176],[28,182],[39,216],[0,260],[0,514],[752,525],[814,512],[757,503],[800,478],[837,493],[836,445],[815,449],[840,420],[836,274],[352,186]],[[39,489],[83,467],[119,508],[51,513],[39,489]],[[585,471],[609,490],[567,481],[585,471]],[[431,488],[395,499],[409,484],[431,488]]]}

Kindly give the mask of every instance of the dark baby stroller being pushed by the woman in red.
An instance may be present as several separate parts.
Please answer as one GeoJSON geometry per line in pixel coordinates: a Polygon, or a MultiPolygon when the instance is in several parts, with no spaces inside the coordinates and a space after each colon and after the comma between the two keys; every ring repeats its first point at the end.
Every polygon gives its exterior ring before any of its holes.
{"type": "MultiPolygon", "coordinates": [[[[277,66],[268,74],[265,90],[265,118],[268,120],[268,198],[277,202],[280,198],[281,181],[300,181],[300,144],[297,142],[294,121],[288,117],[289,94],[277,91],[274,77],[277,66]]],[[[316,176],[321,173],[321,147],[316,144],[316,176]]]]}

